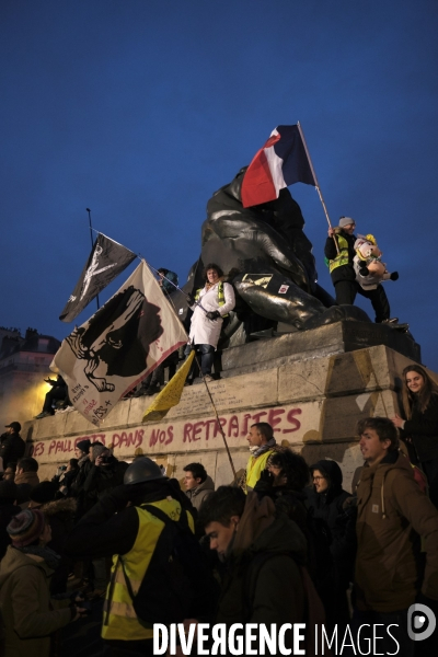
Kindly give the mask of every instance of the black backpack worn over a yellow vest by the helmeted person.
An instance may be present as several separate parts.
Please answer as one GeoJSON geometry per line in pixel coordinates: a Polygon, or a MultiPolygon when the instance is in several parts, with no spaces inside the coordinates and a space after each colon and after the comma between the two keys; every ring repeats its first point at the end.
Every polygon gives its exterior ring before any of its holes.
{"type": "Polygon", "coordinates": [[[184,619],[212,615],[218,597],[218,584],[207,565],[206,556],[192,533],[187,514],[172,520],[161,509],[145,504],[142,509],[164,522],[152,558],[137,595],[119,556],[126,587],[139,622],[182,623],[184,619]],[[215,595],[216,593],[216,595],[215,595]]]}

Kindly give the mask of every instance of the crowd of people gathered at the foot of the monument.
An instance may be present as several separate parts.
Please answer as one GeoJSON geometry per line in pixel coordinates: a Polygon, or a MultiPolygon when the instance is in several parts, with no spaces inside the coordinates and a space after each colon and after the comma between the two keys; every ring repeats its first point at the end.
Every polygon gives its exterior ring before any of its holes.
{"type": "Polygon", "coordinates": [[[425,464],[435,472],[437,393],[418,366],[403,378],[406,419],[358,424],[364,466],[351,492],[336,461],[309,465],[267,423],[250,428],[242,476],[217,489],[201,463],[185,465],[178,482],[147,457],[128,464],[90,440],[39,482],[35,459],[9,460],[21,451],[11,423],[0,482],[5,657],[48,657],[90,604],[102,608],[102,649],[114,656],[153,655],[153,623],[172,622],[187,632],[205,622],[306,623],[308,655],[313,626],[353,637],[361,627],[365,639],[364,627],[379,625],[391,632],[378,652],[434,654],[436,637],[412,641],[407,614],[415,602],[438,613],[438,510],[416,477],[425,464]]]}

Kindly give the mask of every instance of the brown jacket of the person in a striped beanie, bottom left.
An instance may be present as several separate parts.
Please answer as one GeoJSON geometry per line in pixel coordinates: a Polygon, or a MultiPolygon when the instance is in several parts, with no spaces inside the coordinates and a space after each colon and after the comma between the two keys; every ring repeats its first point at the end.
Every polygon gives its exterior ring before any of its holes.
{"type": "Polygon", "coordinates": [[[4,657],[49,657],[50,634],[72,620],[70,600],[50,600],[51,574],[41,556],[8,548],[0,563],[4,657]]]}

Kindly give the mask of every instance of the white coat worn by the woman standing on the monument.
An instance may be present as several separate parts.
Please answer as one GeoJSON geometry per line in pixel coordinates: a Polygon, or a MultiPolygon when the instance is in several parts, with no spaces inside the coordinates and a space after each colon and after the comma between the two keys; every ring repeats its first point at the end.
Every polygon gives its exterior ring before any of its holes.
{"type": "MultiPolygon", "coordinates": [[[[223,284],[223,297],[224,304],[219,306],[218,302],[218,285],[219,281],[211,287],[208,291],[204,287],[200,290],[198,302],[206,309],[207,312],[218,310],[223,316],[228,314],[235,306],[234,290],[229,283],[223,284]]],[[[199,306],[192,306],[194,310],[191,323],[189,341],[195,345],[211,345],[212,347],[218,346],[220,330],[222,327],[223,320],[208,320],[205,311],[199,306]]]]}

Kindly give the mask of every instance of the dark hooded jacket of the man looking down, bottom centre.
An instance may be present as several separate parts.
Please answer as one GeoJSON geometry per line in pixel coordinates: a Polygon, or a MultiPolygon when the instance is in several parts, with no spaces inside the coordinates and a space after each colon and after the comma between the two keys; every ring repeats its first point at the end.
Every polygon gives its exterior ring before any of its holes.
{"type": "Polygon", "coordinates": [[[228,575],[215,622],[299,623],[304,618],[304,588],[298,564],[307,543],[297,525],[275,518],[272,499],[249,493],[245,510],[226,555],[228,575]]]}

